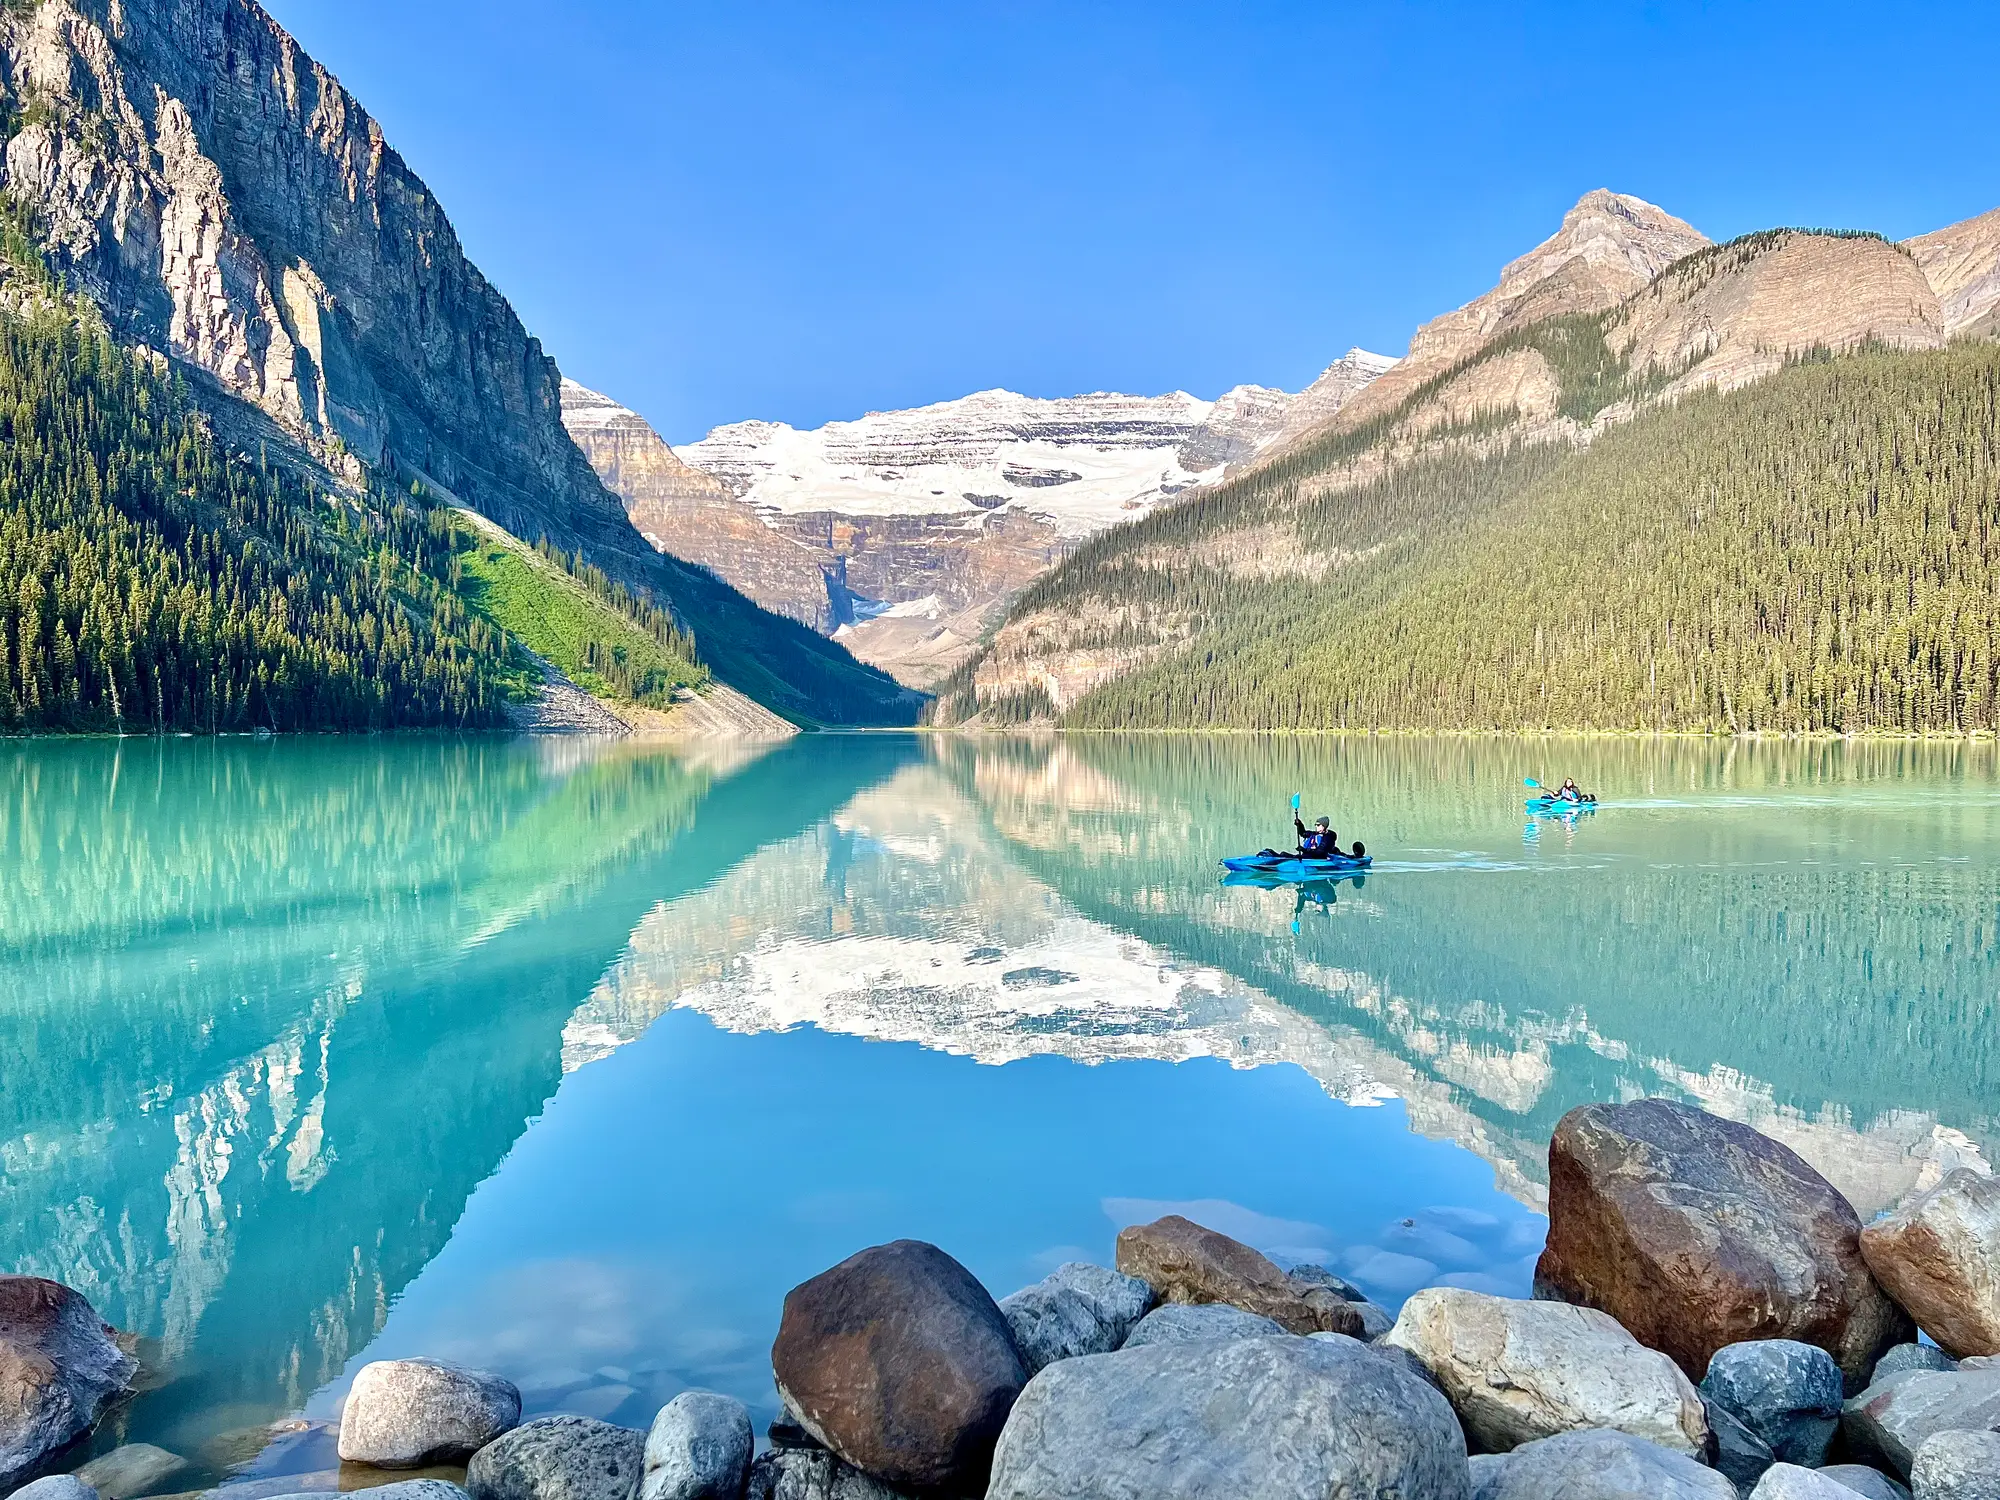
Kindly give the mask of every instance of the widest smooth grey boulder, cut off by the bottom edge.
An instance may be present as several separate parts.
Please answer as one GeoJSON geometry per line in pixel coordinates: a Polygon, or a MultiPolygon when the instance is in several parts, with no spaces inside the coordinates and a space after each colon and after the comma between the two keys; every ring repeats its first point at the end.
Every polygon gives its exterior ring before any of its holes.
{"type": "Polygon", "coordinates": [[[1148,1344],[1022,1392],[986,1500],[1470,1500],[1444,1398],[1358,1344],[1148,1344]]]}

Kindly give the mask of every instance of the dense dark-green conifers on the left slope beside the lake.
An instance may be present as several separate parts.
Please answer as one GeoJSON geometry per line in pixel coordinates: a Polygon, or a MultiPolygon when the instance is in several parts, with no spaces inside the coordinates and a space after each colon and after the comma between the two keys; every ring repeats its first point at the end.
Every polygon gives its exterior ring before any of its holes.
{"type": "Polygon", "coordinates": [[[226,454],[178,382],[0,318],[0,730],[486,726],[450,526],[226,454]]]}

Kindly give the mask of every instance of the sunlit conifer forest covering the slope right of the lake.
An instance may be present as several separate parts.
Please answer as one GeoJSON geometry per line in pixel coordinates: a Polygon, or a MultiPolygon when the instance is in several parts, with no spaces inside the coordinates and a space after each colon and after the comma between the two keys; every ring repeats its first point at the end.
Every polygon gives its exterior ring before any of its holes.
{"type": "MultiPolygon", "coordinates": [[[[1016,618],[1096,622],[1132,668],[1062,722],[2000,728],[2000,346],[1798,362],[1582,452],[1458,444],[1316,488],[1334,458],[1038,584],[1016,618]]],[[[950,684],[946,716],[1046,716],[1032,678],[986,670],[978,692],[976,672],[950,684]]]]}

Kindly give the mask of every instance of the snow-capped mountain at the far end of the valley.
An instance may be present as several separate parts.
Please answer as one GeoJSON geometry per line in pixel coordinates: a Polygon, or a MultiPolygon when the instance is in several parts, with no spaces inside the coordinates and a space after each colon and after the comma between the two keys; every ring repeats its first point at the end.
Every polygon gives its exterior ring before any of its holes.
{"type": "Polygon", "coordinates": [[[930,686],[1078,542],[1218,482],[1300,402],[1332,414],[1392,364],[1352,350],[1300,396],[1236,386],[1214,402],[986,390],[810,432],[734,422],[678,454],[574,382],[564,422],[656,548],[930,686]]]}

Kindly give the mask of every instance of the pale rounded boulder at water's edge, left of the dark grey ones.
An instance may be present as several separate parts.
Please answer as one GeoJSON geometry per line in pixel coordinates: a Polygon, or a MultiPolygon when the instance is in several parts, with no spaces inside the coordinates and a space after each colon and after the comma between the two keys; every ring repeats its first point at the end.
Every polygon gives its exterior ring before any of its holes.
{"type": "Polygon", "coordinates": [[[514,1382],[442,1360],[364,1364],[340,1408],[340,1460],[374,1468],[464,1462],[520,1422],[514,1382]]]}

